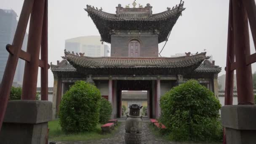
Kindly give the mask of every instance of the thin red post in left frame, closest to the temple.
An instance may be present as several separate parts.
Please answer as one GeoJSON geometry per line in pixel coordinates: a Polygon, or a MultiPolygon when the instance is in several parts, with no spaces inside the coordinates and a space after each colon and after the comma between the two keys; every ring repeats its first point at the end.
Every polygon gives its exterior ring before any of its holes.
{"type": "Polygon", "coordinates": [[[48,101],[48,0],[45,0],[43,32],[41,42],[41,100],[48,101]]]}

